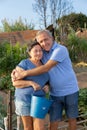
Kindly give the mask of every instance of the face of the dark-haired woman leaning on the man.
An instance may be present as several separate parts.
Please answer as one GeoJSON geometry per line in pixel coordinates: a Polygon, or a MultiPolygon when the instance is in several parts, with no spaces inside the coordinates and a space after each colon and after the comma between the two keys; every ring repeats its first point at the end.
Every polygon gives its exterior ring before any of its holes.
{"type": "Polygon", "coordinates": [[[41,60],[43,56],[42,48],[40,45],[35,45],[29,52],[31,59],[41,60]]]}

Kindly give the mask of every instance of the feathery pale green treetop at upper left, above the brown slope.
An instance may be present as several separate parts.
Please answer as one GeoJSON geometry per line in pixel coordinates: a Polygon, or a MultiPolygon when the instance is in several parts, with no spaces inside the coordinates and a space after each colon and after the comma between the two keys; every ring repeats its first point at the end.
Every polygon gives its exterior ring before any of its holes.
{"type": "Polygon", "coordinates": [[[19,17],[18,20],[16,20],[14,23],[8,22],[6,19],[2,20],[3,24],[3,31],[4,32],[12,32],[12,31],[24,31],[24,30],[33,30],[34,25],[28,24],[26,19],[25,23],[22,21],[21,17],[19,17]]]}

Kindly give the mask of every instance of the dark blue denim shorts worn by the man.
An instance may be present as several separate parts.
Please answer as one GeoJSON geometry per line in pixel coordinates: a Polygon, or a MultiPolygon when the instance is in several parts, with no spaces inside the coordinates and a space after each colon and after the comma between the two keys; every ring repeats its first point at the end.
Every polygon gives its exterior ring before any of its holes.
{"type": "Polygon", "coordinates": [[[60,121],[63,110],[67,118],[76,118],[78,116],[78,95],[79,92],[60,97],[50,96],[54,101],[49,111],[50,121],[60,121]]]}

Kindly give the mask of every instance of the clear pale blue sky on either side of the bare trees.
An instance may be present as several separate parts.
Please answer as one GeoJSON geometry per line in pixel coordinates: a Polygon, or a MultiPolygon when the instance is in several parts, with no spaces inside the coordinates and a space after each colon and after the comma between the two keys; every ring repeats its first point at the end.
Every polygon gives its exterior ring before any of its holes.
{"type": "MultiPolygon", "coordinates": [[[[38,15],[34,12],[32,4],[34,0],[0,0],[0,28],[2,20],[6,18],[10,23],[22,18],[27,23],[34,23],[35,29],[39,29],[38,15]]],[[[74,11],[87,16],[87,0],[72,0],[74,11]]]]}

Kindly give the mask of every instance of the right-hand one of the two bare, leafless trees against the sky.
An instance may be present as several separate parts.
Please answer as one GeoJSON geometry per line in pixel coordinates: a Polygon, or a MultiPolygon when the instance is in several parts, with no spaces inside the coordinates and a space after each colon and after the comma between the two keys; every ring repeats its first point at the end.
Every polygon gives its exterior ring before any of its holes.
{"type": "MultiPolygon", "coordinates": [[[[69,0],[49,0],[52,24],[55,24],[56,20],[72,12],[73,6],[69,0]]],[[[54,25],[55,26],[55,25],[54,25]]]]}

